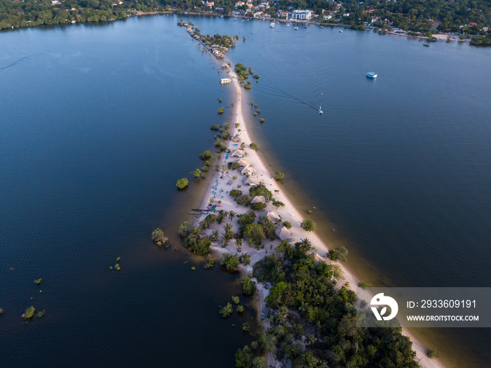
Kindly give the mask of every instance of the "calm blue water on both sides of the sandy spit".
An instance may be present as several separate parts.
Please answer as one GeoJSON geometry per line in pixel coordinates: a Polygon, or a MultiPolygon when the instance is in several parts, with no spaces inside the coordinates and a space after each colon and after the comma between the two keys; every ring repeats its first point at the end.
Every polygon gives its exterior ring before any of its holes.
{"type": "MultiPolygon", "coordinates": [[[[12,346],[0,365],[217,367],[247,342],[231,324],[248,316],[217,314],[238,278],[191,272],[184,251],[148,241],[196,204],[206,182],[177,195],[175,180],[201,166],[210,124],[227,119],[215,113],[217,97],[229,103],[219,64],[177,20],[0,34],[0,67],[28,56],[0,70],[0,334],[12,346]],[[31,304],[48,313],[26,325],[31,304]]],[[[336,228],[321,235],[346,244],[358,276],[489,286],[491,49],[191,21],[240,37],[231,60],[261,75],[246,92],[266,119],[250,114],[260,149],[301,208],[336,228]]],[[[487,329],[417,332],[454,366],[491,360],[487,329]]]]}

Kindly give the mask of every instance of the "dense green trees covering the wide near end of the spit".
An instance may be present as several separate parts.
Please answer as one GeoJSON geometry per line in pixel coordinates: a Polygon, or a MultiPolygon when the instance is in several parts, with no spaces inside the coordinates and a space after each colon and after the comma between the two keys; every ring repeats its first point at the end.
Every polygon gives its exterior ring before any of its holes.
{"type": "Polygon", "coordinates": [[[254,367],[254,355],[268,350],[293,368],[419,367],[400,327],[356,327],[356,295],[336,288],[339,269],[310,252],[308,239],[294,247],[283,241],[254,265],[257,280],[272,284],[273,310],[267,331],[236,353],[236,367],[254,367]]]}

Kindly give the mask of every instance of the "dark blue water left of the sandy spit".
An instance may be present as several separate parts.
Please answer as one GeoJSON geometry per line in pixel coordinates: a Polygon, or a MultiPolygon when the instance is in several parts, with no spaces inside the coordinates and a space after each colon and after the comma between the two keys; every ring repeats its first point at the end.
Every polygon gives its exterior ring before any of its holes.
{"type": "Polygon", "coordinates": [[[218,305],[241,280],[175,236],[207,186],[175,181],[226,121],[219,64],[167,17],[0,36],[0,367],[233,365],[255,312],[218,305]]]}

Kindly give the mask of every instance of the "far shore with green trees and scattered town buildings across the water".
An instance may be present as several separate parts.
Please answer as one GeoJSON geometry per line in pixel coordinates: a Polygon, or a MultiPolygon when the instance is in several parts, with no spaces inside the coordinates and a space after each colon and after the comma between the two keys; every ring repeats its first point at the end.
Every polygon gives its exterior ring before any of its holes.
{"type": "Polygon", "coordinates": [[[144,13],[199,13],[244,15],[284,20],[290,7],[309,9],[312,22],[344,25],[382,33],[399,29],[410,36],[432,37],[437,33],[472,37],[473,45],[490,45],[491,4],[486,0],[417,1],[170,1],[170,0],[0,0],[0,29],[62,25],[76,22],[108,22],[144,13]],[[266,4],[266,5],[264,5],[266,4]],[[282,12],[283,10],[283,12],[282,12]],[[257,15],[260,14],[260,15],[257,15]],[[475,40],[474,40],[475,39],[475,40]]]}

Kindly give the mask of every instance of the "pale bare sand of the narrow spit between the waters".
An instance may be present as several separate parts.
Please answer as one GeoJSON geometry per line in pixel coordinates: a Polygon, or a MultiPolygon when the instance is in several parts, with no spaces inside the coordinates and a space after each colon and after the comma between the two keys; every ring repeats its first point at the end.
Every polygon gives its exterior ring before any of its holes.
{"type": "MultiPolygon", "coordinates": [[[[277,201],[281,201],[285,204],[285,206],[280,207],[278,209],[274,208],[274,206],[271,205],[271,202],[267,204],[267,208],[262,210],[262,211],[257,211],[257,216],[263,216],[265,213],[268,211],[276,211],[279,216],[281,216],[283,221],[289,221],[292,224],[292,228],[290,229],[291,232],[291,243],[294,244],[295,242],[299,242],[301,239],[308,238],[311,241],[311,244],[313,247],[315,247],[317,255],[316,258],[320,261],[328,261],[328,259],[323,258],[320,255],[323,255],[328,252],[329,248],[328,245],[323,242],[321,237],[319,237],[316,232],[307,232],[303,230],[300,227],[300,223],[304,220],[304,216],[302,216],[302,213],[292,204],[290,199],[285,195],[283,190],[281,189],[281,186],[278,185],[276,182],[276,179],[274,179],[267,170],[267,166],[264,164],[262,161],[260,155],[258,154],[257,150],[252,150],[250,149],[249,145],[251,142],[250,136],[248,134],[248,129],[245,124],[245,120],[242,114],[242,107],[243,107],[243,99],[242,99],[242,90],[241,86],[238,83],[238,78],[233,70],[229,68],[227,71],[229,74],[229,77],[232,79],[232,84],[236,90],[236,101],[234,102],[234,110],[231,113],[231,121],[230,123],[230,130],[232,136],[236,136],[238,134],[238,138],[240,139],[240,142],[233,142],[229,141],[228,142],[228,148],[231,150],[231,153],[227,155],[222,153],[222,156],[220,159],[218,159],[217,163],[218,164],[227,164],[228,162],[237,162],[238,158],[237,157],[232,157],[232,152],[234,150],[237,150],[238,147],[241,145],[241,143],[245,143],[246,148],[245,148],[245,159],[248,159],[250,161],[250,165],[255,169],[255,173],[253,173],[253,177],[259,178],[264,185],[274,193],[274,198],[277,201]],[[238,124],[238,128],[235,127],[235,124],[238,124]],[[238,129],[241,129],[239,132],[238,129]],[[228,158],[226,158],[228,157],[228,158]],[[277,192],[275,192],[275,190],[277,192]]],[[[247,103],[247,101],[245,102],[247,103]]],[[[259,150],[261,150],[261,147],[259,145],[259,150]]],[[[206,192],[206,196],[203,199],[202,202],[202,207],[201,208],[206,208],[206,206],[210,203],[210,198],[214,197],[214,202],[213,204],[220,205],[219,209],[223,209],[224,211],[235,211],[236,213],[245,213],[246,211],[249,210],[248,207],[244,206],[238,206],[236,202],[234,202],[234,198],[232,198],[228,192],[233,189],[239,189],[248,191],[249,186],[245,185],[243,183],[243,180],[245,180],[245,176],[241,174],[241,172],[237,170],[228,170],[227,173],[224,173],[222,178],[218,178],[219,173],[215,173],[213,176],[213,179],[211,180],[210,186],[206,192]],[[237,176],[236,180],[233,180],[233,183],[231,183],[231,179],[233,176],[237,176]],[[218,202],[221,201],[219,204],[218,202]]],[[[200,218],[197,218],[195,221],[194,225],[198,225],[200,221],[200,218]]],[[[232,225],[234,225],[234,231],[238,230],[238,224],[237,224],[237,218],[235,217],[232,221],[227,217],[224,223],[230,222],[232,225]]],[[[220,234],[224,233],[224,230],[222,228],[222,225],[217,225],[214,224],[209,230],[207,230],[206,235],[210,235],[212,230],[218,230],[220,234]]],[[[252,271],[253,267],[252,265],[256,263],[257,261],[260,261],[265,255],[271,254],[272,250],[271,247],[276,247],[276,245],[279,244],[279,240],[277,239],[274,242],[266,241],[264,249],[257,250],[253,247],[250,247],[248,242],[244,240],[243,242],[243,247],[242,247],[242,252],[243,253],[248,253],[250,254],[250,263],[251,265],[248,265],[246,268],[244,268],[245,273],[252,271]],[[271,244],[270,244],[271,243],[271,244]]],[[[236,249],[236,244],[233,240],[229,242],[227,247],[222,248],[219,244],[212,244],[212,249],[217,252],[217,254],[223,254],[226,252],[229,252],[231,254],[237,254],[237,249],[236,249]]],[[[344,282],[349,282],[349,288],[353,289],[356,291],[356,286],[358,285],[358,281],[356,277],[354,277],[353,273],[350,272],[347,268],[344,267],[344,265],[340,265],[342,268],[342,272],[344,274],[344,282]]],[[[259,294],[259,312],[262,310],[264,306],[264,297],[267,295],[267,290],[263,290],[262,288],[258,289],[258,294],[259,294]]],[[[265,323],[265,322],[264,322],[265,323]]],[[[415,360],[419,362],[419,365],[421,367],[429,367],[429,368],[436,368],[436,367],[445,367],[439,360],[436,360],[435,358],[429,359],[429,357],[426,356],[426,348],[422,345],[421,342],[419,342],[415,336],[413,336],[410,331],[407,329],[403,329],[403,334],[405,336],[408,336],[411,341],[412,341],[412,350],[415,350],[416,352],[416,358],[415,360]]],[[[269,364],[274,364],[274,359],[272,360],[271,357],[268,357],[268,362],[269,364]]]]}

